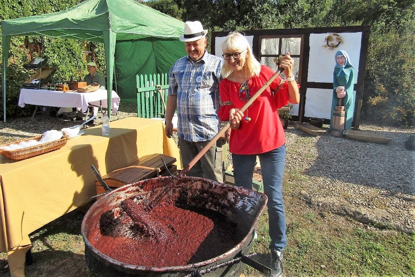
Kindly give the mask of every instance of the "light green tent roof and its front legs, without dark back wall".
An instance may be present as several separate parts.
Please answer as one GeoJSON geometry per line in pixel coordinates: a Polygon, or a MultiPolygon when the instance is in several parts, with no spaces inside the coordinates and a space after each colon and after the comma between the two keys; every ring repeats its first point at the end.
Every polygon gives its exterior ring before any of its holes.
{"type": "Polygon", "coordinates": [[[47,36],[103,42],[110,115],[115,44],[149,37],[178,40],[183,29],[184,22],[134,0],[86,0],[56,13],[1,21],[3,121],[6,122],[6,73],[11,37],[47,36]]]}

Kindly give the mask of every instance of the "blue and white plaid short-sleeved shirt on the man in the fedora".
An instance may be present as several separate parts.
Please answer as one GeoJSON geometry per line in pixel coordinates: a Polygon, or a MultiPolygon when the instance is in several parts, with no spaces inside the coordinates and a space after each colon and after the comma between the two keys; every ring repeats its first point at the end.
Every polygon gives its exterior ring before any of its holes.
{"type": "Polygon", "coordinates": [[[185,56],[169,73],[169,95],[177,94],[177,134],[190,142],[211,140],[219,131],[222,59],[205,52],[197,62],[185,56]]]}

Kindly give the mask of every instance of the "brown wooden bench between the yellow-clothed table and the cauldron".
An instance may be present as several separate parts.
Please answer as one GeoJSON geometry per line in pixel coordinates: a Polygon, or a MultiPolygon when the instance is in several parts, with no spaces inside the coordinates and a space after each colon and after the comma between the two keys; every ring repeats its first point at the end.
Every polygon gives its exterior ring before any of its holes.
{"type": "MultiPolygon", "coordinates": [[[[115,189],[140,180],[173,174],[177,171],[177,166],[173,165],[175,162],[176,158],[163,154],[147,155],[126,167],[116,169],[102,176],[102,179],[111,189],[115,189]],[[166,163],[168,170],[163,161],[166,163]]],[[[97,195],[105,193],[104,187],[102,187],[98,180],[95,180],[95,186],[97,195]]]]}

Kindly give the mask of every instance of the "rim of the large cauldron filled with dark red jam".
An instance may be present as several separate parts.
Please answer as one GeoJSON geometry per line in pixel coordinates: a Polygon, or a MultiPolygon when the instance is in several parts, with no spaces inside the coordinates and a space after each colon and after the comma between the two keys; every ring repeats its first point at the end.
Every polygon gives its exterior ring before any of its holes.
{"type": "MultiPolygon", "coordinates": [[[[157,179],[158,181],[163,181],[165,179],[170,179],[170,178],[172,178],[172,177],[171,176],[165,176],[165,177],[158,177],[158,178],[151,178],[151,179],[157,179]]],[[[101,259],[104,259],[106,261],[106,263],[108,263],[108,265],[110,265],[111,267],[114,267],[114,268],[115,267],[117,267],[117,268],[121,267],[121,268],[124,268],[126,270],[133,270],[133,271],[140,270],[140,271],[151,271],[151,272],[172,272],[172,271],[181,272],[181,271],[191,271],[191,270],[194,270],[195,268],[200,268],[200,267],[207,267],[211,264],[218,264],[219,261],[222,262],[222,261],[226,260],[226,258],[232,259],[234,257],[234,256],[230,257],[230,256],[232,256],[232,254],[235,254],[235,255],[238,254],[239,252],[241,252],[244,249],[245,245],[251,244],[252,241],[249,242],[249,243],[247,243],[247,242],[248,242],[249,239],[252,240],[252,234],[253,234],[254,228],[256,226],[256,223],[257,223],[262,211],[264,210],[264,206],[267,203],[267,197],[266,197],[265,194],[263,194],[261,192],[254,191],[254,190],[250,190],[250,189],[247,189],[247,188],[244,188],[244,187],[238,187],[238,186],[235,186],[235,185],[227,185],[227,184],[219,183],[219,182],[216,182],[216,181],[213,181],[213,180],[208,180],[208,179],[200,178],[200,177],[182,176],[180,178],[183,178],[184,180],[189,180],[189,181],[190,180],[206,181],[206,182],[211,183],[212,185],[219,185],[219,186],[223,186],[223,187],[227,187],[227,188],[232,188],[232,189],[238,190],[240,192],[245,192],[246,194],[259,194],[261,196],[261,198],[263,198],[264,200],[262,202],[261,207],[258,210],[257,216],[256,216],[256,218],[255,218],[248,234],[244,237],[244,239],[241,240],[238,244],[236,244],[232,249],[228,250],[227,252],[223,253],[222,255],[219,255],[219,256],[216,256],[214,258],[207,259],[207,260],[204,260],[204,261],[191,263],[191,264],[186,264],[186,265],[179,265],[179,266],[150,267],[150,266],[134,265],[134,264],[128,264],[128,263],[121,262],[119,260],[113,259],[113,258],[101,253],[99,250],[97,250],[91,244],[91,242],[87,238],[87,232],[85,230],[85,225],[87,224],[87,220],[89,219],[89,216],[88,216],[89,213],[91,211],[93,211],[94,209],[98,209],[99,205],[101,203],[105,202],[106,198],[108,198],[108,197],[112,196],[113,194],[116,194],[120,191],[130,189],[132,186],[137,186],[137,188],[138,188],[138,185],[143,184],[145,182],[149,182],[151,180],[151,179],[147,179],[147,180],[142,180],[142,181],[139,181],[139,182],[136,182],[136,183],[132,183],[132,184],[125,185],[125,186],[119,187],[117,189],[114,189],[113,191],[105,194],[101,199],[97,200],[89,208],[89,210],[87,211],[87,213],[85,214],[85,216],[82,220],[82,225],[81,225],[81,235],[84,239],[85,244],[89,247],[89,250],[92,251],[92,253],[94,255],[100,257],[101,259]]]]}

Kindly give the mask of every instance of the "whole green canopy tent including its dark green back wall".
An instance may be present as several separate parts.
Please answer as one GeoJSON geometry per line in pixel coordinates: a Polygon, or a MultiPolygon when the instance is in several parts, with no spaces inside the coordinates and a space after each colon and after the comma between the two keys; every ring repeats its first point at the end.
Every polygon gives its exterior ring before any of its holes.
{"type": "Polygon", "coordinates": [[[122,75],[116,80],[121,99],[135,98],[135,74],[167,72],[175,60],[186,55],[183,42],[178,39],[183,29],[182,21],[134,0],[86,0],[56,13],[1,21],[4,122],[12,36],[64,37],[104,43],[108,107],[112,107],[114,65],[122,75]]]}

